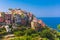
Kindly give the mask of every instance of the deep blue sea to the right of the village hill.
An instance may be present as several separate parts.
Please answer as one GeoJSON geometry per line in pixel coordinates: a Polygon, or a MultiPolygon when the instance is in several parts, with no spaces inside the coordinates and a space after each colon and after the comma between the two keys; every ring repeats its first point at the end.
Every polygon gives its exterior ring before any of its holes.
{"type": "Polygon", "coordinates": [[[60,24],[60,17],[39,17],[38,19],[53,29],[57,29],[57,25],[60,24]]]}

